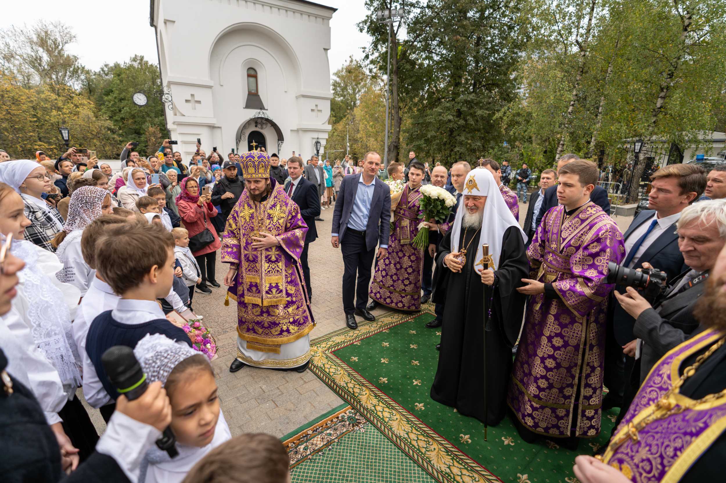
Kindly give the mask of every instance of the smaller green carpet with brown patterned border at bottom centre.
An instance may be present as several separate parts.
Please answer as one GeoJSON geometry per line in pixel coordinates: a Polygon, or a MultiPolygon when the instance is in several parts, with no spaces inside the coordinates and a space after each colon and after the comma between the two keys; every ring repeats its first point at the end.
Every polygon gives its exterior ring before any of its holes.
{"type": "Polygon", "coordinates": [[[293,483],[433,483],[350,405],[282,437],[293,483]]]}

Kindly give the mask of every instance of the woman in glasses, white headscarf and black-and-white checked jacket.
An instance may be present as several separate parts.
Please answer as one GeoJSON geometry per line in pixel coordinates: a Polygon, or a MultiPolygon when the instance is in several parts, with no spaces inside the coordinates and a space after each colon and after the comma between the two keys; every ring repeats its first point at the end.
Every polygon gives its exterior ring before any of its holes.
{"type": "Polygon", "coordinates": [[[46,168],[31,160],[4,162],[0,165],[0,182],[9,185],[23,199],[25,218],[30,220],[25,239],[54,252],[51,241],[63,231],[63,218],[42,198],[52,188],[46,168]]]}

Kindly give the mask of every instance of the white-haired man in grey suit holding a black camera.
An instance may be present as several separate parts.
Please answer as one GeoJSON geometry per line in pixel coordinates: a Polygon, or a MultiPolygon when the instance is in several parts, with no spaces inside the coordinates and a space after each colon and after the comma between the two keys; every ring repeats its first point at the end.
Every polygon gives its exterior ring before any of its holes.
{"type": "MultiPolygon", "coordinates": [[[[672,279],[663,297],[651,307],[635,289],[627,289],[626,294],[615,292],[621,307],[635,318],[633,333],[638,337],[640,358],[636,360],[631,384],[636,389],[658,359],[698,328],[693,307],[726,244],[726,199],[698,202],[685,208],[677,229],[678,247],[689,268],[672,279]]],[[[650,268],[650,264],[644,265],[650,268]]]]}

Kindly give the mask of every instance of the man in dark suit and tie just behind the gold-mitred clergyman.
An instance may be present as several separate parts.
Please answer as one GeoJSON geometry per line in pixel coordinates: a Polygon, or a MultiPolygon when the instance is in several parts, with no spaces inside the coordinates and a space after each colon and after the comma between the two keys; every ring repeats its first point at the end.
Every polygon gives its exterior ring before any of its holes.
{"type": "Polygon", "coordinates": [[[308,225],[308,234],[305,236],[305,247],[300,255],[300,263],[303,265],[303,278],[305,278],[305,285],[308,289],[308,298],[312,299],[308,247],[317,239],[315,218],[320,215],[320,197],[317,194],[317,187],[303,178],[303,160],[301,158],[293,156],[287,160],[287,174],[291,181],[285,184],[285,193],[300,207],[300,214],[308,225]]]}

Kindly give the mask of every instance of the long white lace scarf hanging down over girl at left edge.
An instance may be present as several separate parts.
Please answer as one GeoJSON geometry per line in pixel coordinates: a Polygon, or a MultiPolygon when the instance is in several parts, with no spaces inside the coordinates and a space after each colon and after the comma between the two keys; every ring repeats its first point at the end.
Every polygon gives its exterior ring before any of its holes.
{"type": "Polygon", "coordinates": [[[63,292],[38,265],[37,247],[30,241],[13,240],[10,252],[25,262],[18,277],[28,300],[25,317],[33,341],[58,371],[63,387],[76,389],[81,385],[77,363],[81,358],[71,333],[70,310],[63,292]]]}

